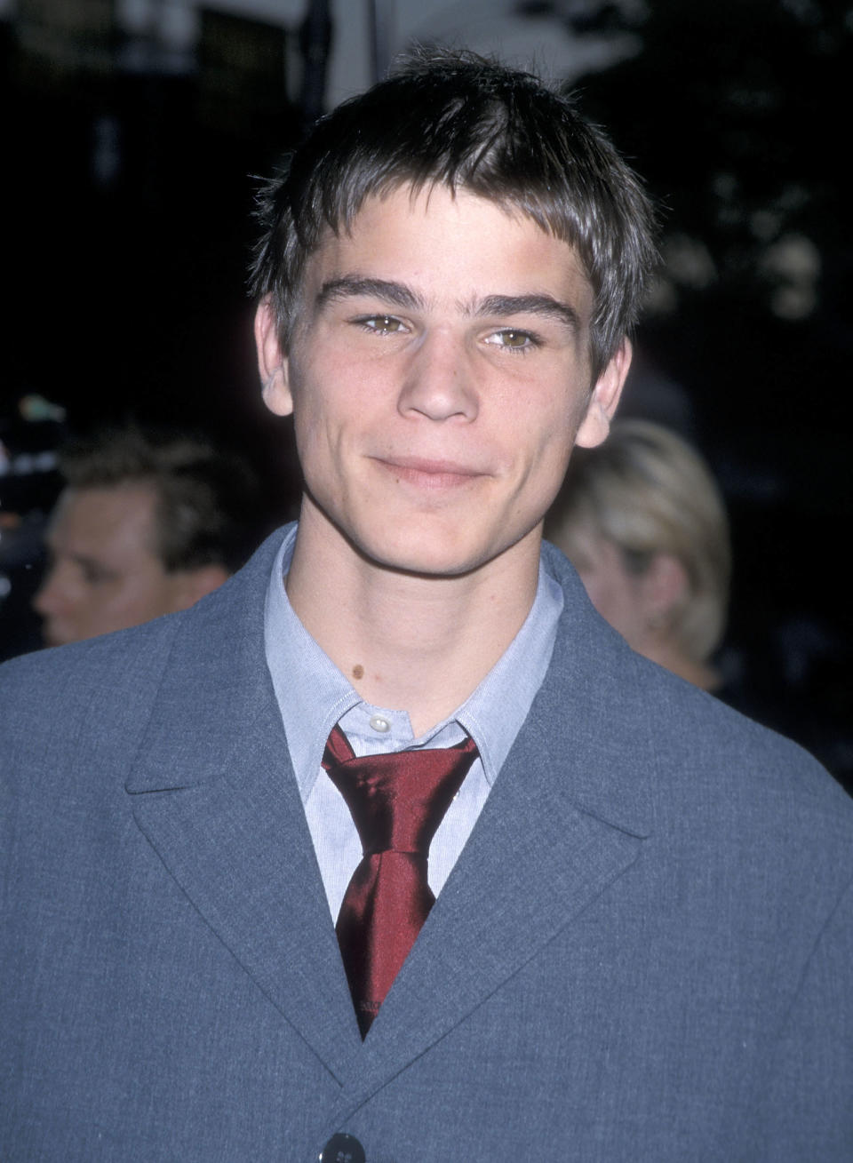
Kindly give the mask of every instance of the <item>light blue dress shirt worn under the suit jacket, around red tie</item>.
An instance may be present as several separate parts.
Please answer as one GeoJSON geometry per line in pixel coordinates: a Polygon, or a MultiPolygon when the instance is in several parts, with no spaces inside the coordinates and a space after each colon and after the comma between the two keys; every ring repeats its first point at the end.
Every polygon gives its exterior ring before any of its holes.
{"type": "Polygon", "coordinates": [[[362,857],[349,808],[320,765],[335,723],[340,723],[358,756],[452,747],[465,734],[477,744],[479,758],[429,848],[427,875],[438,897],[542,684],[563,607],[562,590],[540,564],[533,606],[506,651],[461,707],[415,739],[408,714],[365,702],[293,613],[284,579],[293,556],[296,528],[285,530],[266,592],[266,664],[332,916],[337,916],[362,857]]]}

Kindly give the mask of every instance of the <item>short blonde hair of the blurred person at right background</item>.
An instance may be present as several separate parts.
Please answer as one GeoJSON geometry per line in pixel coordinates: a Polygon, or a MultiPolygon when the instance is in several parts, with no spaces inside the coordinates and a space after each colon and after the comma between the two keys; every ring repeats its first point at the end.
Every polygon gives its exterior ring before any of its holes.
{"type": "Polygon", "coordinates": [[[603,444],[573,452],[546,518],[546,537],[568,557],[581,529],[613,542],[632,573],[659,554],[682,564],[689,593],[670,612],[671,630],[705,662],[725,629],[731,544],[723,497],[698,452],[660,424],[617,421],[603,444]]]}

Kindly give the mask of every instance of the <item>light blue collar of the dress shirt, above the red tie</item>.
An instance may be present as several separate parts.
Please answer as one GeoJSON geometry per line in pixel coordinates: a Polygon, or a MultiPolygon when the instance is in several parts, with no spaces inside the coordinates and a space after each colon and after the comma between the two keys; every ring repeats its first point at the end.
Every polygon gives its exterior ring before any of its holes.
{"type": "MultiPolygon", "coordinates": [[[[266,590],[264,642],[266,664],[282,713],[303,802],[314,786],[328,734],[354,707],[394,721],[400,736],[405,712],[365,704],[328,655],[317,644],[287,600],[284,578],[293,556],[297,527],[290,527],[276,556],[266,590]],[[296,677],[296,680],[294,680],[296,677]]],[[[438,740],[448,725],[459,723],[477,744],[483,771],[493,784],[542,684],[550,663],[556,626],[563,608],[559,583],[541,561],[531,612],[521,629],[479,686],[443,723],[425,736],[399,745],[449,743],[438,740]]],[[[405,734],[405,727],[403,727],[405,734]]]]}

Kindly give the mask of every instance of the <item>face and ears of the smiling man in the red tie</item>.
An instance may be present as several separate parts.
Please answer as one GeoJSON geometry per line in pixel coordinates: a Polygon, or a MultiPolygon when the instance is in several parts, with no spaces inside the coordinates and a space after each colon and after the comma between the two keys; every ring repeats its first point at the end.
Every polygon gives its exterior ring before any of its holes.
{"type": "Polygon", "coordinates": [[[577,441],[604,438],[627,349],[590,397],[592,291],[573,249],[470,193],[368,200],[306,266],[266,400],[294,413],[303,523],[368,561],[460,575],[526,540],[577,441]]]}

